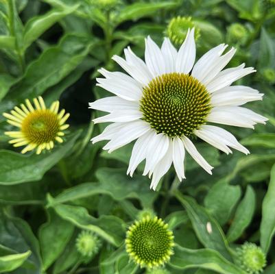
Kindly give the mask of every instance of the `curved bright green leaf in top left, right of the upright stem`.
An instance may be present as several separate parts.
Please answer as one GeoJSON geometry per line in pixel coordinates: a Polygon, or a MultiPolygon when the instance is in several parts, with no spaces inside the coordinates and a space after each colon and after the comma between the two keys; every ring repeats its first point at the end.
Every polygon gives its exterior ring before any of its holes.
{"type": "Polygon", "coordinates": [[[23,34],[23,49],[27,49],[41,34],[64,16],[71,14],[79,5],[73,5],[64,10],[53,9],[43,15],[32,17],[25,25],[23,34]]]}

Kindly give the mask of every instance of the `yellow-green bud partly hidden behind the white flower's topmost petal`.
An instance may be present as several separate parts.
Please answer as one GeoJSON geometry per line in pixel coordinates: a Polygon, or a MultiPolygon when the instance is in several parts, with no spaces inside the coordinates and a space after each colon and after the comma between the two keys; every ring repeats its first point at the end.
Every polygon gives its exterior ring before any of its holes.
{"type": "MultiPolygon", "coordinates": [[[[195,27],[191,17],[176,17],[172,18],[168,27],[167,35],[175,45],[181,45],[187,36],[188,29],[195,27]]],[[[200,29],[195,28],[195,40],[200,38],[200,29]]]]}

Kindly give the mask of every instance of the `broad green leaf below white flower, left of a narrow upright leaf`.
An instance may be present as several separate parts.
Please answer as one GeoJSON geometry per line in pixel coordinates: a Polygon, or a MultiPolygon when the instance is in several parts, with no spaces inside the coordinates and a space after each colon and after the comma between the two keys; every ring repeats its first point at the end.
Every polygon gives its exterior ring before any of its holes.
{"type": "Polygon", "coordinates": [[[228,182],[221,180],[209,190],[204,204],[219,224],[224,225],[240,198],[240,186],[231,186],[228,182]]]}

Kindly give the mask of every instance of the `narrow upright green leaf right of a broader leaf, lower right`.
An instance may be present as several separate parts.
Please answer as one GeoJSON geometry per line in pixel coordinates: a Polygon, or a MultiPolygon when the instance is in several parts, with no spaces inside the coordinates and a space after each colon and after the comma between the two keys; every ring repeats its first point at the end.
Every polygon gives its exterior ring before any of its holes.
{"type": "Polygon", "coordinates": [[[227,232],[228,242],[234,242],[245,231],[253,218],[256,206],[256,195],[251,186],[246,188],[246,195],[236,210],[235,217],[227,232]]]}

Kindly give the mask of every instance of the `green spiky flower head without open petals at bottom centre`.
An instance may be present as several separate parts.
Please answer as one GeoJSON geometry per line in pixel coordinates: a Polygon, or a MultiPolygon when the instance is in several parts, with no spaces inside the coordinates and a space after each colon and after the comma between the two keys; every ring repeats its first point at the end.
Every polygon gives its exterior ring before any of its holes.
{"type": "Polygon", "coordinates": [[[173,254],[173,232],[156,216],[135,221],[128,229],[125,242],[130,258],[141,266],[160,266],[173,254]]]}

